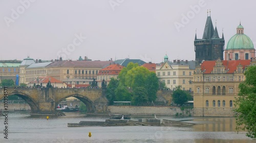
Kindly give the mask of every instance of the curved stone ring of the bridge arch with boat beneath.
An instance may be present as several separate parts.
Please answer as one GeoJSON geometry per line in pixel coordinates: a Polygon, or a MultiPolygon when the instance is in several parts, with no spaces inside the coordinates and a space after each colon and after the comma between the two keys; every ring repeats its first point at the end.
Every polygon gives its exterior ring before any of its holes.
{"type": "Polygon", "coordinates": [[[86,96],[83,96],[83,95],[79,95],[79,94],[72,94],[72,95],[68,95],[68,96],[65,96],[61,99],[59,99],[58,101],[55,101],[55,109],[57,108],[57,105],[60,103],[60,101],[66,99],[66,98],[69,98],[69,97],[75,97],[77,99],[79,99],[80,101],[82,101],[86,106],[87,106],[87,111],[88,112],[95,112],[96,111],[96,108],[95,108],[95,105],[94,105],[94,102],[92,100],[90,100],[89,98],[87,98],[86,96]]]}

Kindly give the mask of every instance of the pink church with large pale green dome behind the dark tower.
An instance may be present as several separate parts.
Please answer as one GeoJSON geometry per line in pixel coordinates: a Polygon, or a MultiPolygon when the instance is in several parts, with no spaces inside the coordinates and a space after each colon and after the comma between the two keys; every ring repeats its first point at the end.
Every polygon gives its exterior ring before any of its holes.
{"type": "Polygon", "coordinates": [[[244,27],[237,26],[237,34],[232,36],[225,49],[225,60],[250,60],[255,58],[255,49],[251,39],[244,34],[244,27]]]}

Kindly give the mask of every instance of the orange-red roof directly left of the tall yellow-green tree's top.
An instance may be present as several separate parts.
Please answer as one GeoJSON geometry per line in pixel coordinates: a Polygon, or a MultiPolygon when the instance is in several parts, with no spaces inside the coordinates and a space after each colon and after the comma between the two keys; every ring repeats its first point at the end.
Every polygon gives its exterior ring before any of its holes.
{"type": "Polygon", "coordinates": [[[99,70],[98,75],[102,75],[102,74],[118,75],[122,69],[123,69],[123,66],[119,64],[112,64],[112,65],[109,65],[108,67],[105,67],[99,70]]]}

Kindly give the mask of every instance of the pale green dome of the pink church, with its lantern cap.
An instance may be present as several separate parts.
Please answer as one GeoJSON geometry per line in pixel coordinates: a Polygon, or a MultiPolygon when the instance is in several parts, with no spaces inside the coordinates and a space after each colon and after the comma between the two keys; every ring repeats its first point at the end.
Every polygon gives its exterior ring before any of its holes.
{"type": "Polygon", "coordinates": [[[226,49],[254,49],[254,46],[251,39],[247,35],[236,34],[230,38],[226,49]]]}

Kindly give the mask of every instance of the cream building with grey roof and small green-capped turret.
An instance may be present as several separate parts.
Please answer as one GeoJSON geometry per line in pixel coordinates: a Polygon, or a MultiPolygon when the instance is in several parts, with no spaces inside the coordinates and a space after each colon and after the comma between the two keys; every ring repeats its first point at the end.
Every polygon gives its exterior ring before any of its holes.
{"type": "Polygon", "coordinates": [[[168,56],[164,56],[164,63],[156,66],[156,74],[160,82],[164,82],[166,87],[174,90],[181,85],[182,90],[192,91],[193,72],[196,68],[196,61],[174,60],[168,61],[168,56]]]}

